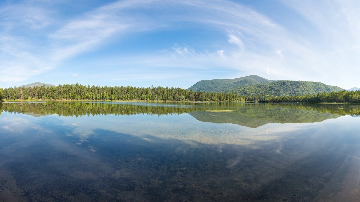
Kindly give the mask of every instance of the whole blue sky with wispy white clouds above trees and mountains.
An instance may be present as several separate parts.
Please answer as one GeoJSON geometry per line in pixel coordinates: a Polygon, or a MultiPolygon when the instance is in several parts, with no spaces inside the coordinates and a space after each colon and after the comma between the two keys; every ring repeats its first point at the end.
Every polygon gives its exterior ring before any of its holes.
{"type": "Polygon", "coordinates": [[[189,88],[252,74],[360,87],[359,0],[0,2],[2,88],[189,88]]]}

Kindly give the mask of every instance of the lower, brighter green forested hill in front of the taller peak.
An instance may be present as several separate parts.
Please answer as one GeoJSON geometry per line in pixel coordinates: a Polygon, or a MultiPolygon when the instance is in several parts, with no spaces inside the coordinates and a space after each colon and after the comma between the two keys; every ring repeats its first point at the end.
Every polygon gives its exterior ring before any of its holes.
{"type": "Polygon", "coordinates": [[[337,86],[328,86],[320,82],[309,81],[276,81],[271,83],[256,84],[238,88],[228,89],[226,92],[237,93],[239,95],[274,95],[274,96],[293,96],[293,95],[314,95],[319,92],[337,92],[344,89],[337,86]]]}

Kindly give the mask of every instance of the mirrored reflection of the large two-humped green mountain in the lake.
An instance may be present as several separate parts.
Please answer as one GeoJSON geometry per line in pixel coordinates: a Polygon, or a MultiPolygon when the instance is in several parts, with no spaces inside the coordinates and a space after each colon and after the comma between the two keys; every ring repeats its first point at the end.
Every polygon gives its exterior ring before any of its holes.
{"type": "Polygon", "coordinates": [[[250,128],[257,128],[267,123],[312,123],[342,115],[317,110],[294,109],[291,107],[242,107],[232,112],[195,111],[189,113],[202,122],[233,123],[250,128]]]}

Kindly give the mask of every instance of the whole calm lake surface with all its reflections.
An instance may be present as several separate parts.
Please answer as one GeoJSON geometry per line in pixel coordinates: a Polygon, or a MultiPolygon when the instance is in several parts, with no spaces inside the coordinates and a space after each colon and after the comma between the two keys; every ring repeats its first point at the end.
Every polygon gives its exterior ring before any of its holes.
{"type": "Polygon", "coordinates": [[[3,102],[0,201],[356,201],[360,105],[3,102]]]}

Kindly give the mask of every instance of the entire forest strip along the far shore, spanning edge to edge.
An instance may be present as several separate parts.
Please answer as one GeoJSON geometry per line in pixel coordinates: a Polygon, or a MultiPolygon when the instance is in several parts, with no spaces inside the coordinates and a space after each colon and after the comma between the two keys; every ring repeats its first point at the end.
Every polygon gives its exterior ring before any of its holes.
{"type": "Polygon", "coordinates": [[[197,102],[351,102],[360,103],[360,91],[339,91],[316,95],[271,96],[235,93],[196,92],[183,88],[131,86],[84,86],[64,84],[57,87],[0,88],[0,100],[148,100],[197,102]]]}

